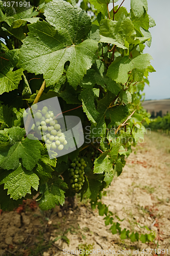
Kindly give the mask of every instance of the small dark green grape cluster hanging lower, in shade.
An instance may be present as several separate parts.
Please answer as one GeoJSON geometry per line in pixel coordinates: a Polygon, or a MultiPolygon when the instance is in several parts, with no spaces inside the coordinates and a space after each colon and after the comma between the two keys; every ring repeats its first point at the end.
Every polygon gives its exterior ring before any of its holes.
{"type": "Polygon", "coordinates": [[[87,164],[85,160],[83,158],[77,157],[70,164],[70,168],[68,169],[71,187],[76,192],[82,189],[83,183],[85,181],[84,168],[86,166],[87,164]]]}

